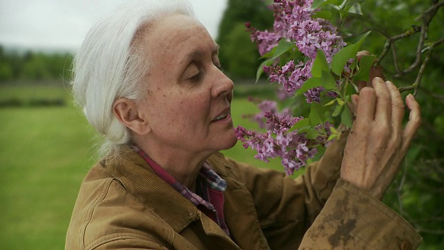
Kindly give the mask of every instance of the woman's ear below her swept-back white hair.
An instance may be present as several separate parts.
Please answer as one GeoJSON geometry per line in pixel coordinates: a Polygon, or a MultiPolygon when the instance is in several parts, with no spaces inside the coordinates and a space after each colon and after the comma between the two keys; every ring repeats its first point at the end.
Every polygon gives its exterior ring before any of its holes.
{"type": "Polygon", "coordinates": [[[151,131],[148,121],[139,113],[136,101],[119,98],[112,104],[112,113],[121,123],[138,135],[146,135],[151,131]]]}

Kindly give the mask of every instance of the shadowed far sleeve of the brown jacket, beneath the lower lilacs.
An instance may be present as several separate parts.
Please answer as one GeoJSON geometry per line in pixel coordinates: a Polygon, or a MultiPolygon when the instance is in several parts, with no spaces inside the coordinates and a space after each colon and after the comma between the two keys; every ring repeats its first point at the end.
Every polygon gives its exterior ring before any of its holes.
{"type": "Polygon", "coordinates": [[[284,172],[232,161],[232,174],[250,192],[271,249],[294,249],[321,212],[339,178],[347,136],[327,147],[323,157],[296,179],[284,172]]]}

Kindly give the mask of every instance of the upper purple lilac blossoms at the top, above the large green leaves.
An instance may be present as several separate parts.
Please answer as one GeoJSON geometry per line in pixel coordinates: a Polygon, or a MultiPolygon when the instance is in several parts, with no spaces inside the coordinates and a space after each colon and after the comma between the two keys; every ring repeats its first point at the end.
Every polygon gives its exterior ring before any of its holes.
{"type": "MultiPolygon", "coordinates": [[[[300,52],[305,55],[303,60],[290,60],[287,64],[264,66],[271,82],[280,83],[284,90],[292,95],[308,78],[311,77],[311,66],[318,49],[324,51],[330,63],[334,53],[339,51],[345,42],[337,35],[336,27],[323,19],[311,17],[316,10],[311,9],[313,0],[275,0],[273,24],[274,31],[259,31],[246,24],[251,31],[251,40],[257,43],[259,53],[264,56],[271,51],[281,39],[294,42],[300,52]]],[[[305,93],[308,103],[319,102],[321,88],[305,93]]]]}

